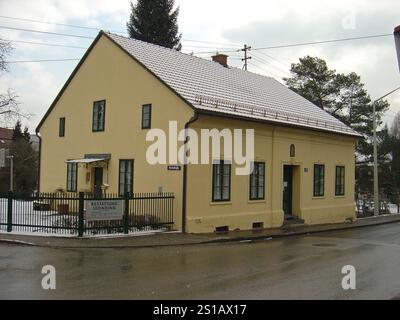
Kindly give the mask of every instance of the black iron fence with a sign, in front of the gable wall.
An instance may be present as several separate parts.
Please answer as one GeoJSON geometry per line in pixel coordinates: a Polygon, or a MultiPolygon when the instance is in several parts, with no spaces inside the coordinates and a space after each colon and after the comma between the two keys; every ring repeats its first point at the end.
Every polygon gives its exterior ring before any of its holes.
{"type": "Polygon", "coordinates": [[[85,193],[0,194],[0,230],[88,235],[168,231],[174,227],[173,193],[120,197],[85,193]]]}

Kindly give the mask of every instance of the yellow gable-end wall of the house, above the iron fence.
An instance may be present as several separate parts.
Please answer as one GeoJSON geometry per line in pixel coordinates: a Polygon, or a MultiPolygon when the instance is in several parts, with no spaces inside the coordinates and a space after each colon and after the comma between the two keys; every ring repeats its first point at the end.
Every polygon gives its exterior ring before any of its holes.
{"type": "MultiPolygon", "coordinates": [[[[102,36],[70,82],[40,129],[42,136],[40,189],[66,189],[68,159],[85,154],[111,154],[103,182],[108,192],[118,192],[120,159],[134,159],[134,192],[175,194],[175,228],[181,228],[183,171],[146,161],[148,130],[141,129],[142,105],[152,104],[152,127],[168,130],[176,119],[178,130],[193,111],[144,67],[102,36]],[[106,100],[105,131],[92,132],[93,102],[106,100]],[[58,136],[59,118],[65,117],[65,137],[58,136]]],[[[91,165],[79,165],[78,192],[91,191],[91,165]]]]}

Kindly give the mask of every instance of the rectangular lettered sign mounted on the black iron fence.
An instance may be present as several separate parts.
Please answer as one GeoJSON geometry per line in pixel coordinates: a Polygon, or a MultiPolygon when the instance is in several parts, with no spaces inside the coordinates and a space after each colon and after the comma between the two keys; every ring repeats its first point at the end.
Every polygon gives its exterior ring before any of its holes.
{"type": "Polygon", "coordinates": [[[122,220],[123,200],[88,200],[86,219],[88,221],[122,220]]]}

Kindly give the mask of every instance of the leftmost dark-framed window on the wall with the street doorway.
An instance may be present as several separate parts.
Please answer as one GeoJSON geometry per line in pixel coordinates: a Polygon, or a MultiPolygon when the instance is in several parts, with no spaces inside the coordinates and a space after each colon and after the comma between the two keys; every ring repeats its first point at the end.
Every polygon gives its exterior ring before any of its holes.
{"type": "Polygon", "coordinates": [[[231,164],[220,161],[213,164],[213,202],[231,199],[231,164]]]}

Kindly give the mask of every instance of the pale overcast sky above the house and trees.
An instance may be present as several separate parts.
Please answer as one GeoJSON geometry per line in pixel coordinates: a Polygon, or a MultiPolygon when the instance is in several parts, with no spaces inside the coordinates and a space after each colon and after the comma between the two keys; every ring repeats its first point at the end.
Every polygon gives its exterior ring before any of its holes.
{"type": "MultiPolygon", "coordinates": [[[[233,51],[230,65],[242,67],[240,45],[253,48],[358,36],[390,34],[400,24],[398,0],[177,0],[184,52],[204,58],[209,51],[233,51]],[[192,42],[189,40],[205,41],[192,42]]],[[[124,33],[129,0],[0,0],[0,38],[87,48],[91,40],[8,30],[4,27],[43,30],[95,37],[96,30],[8,19],[89,26],[124,33]]],[[[14,43],[10,61],[81,58],[85,50],[14,43]]],[[[312,46],[252,51],[249,70],[281,81],[290,64],[305,55],[325,59],[338,72],[361,75],[372,98],[400,86],[392,36],[312,46]]],[[[14,89],[21,106],[34,116],[25,121],[33,132],[78,61],[15,63],[0,77],[0,92],[14,89]]],[[[390,124],[400,111],[400,93],[389,101],[385,116],[390,124]]]]}

